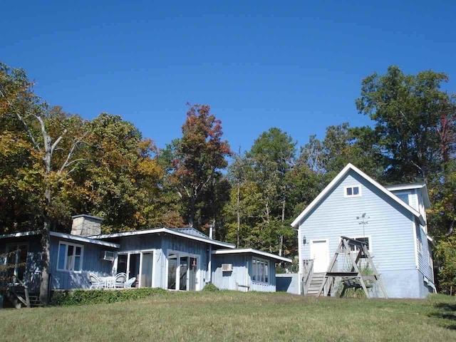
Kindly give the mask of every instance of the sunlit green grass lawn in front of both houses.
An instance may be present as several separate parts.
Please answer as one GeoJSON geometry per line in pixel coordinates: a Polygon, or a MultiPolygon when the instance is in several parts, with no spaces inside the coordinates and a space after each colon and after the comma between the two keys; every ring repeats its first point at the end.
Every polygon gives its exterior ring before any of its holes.
{"type": "Polygon", "coordinates": [[[1,341],[456,341],[454,297],[166,292],[115,304],[0,310],[1,341]]]}

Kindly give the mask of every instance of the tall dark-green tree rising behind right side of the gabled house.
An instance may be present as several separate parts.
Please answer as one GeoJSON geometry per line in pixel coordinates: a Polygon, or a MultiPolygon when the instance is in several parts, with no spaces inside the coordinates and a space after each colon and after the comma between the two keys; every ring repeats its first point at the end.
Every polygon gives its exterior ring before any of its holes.
{"type": "Polygon", "coordinates": [[[390,180],[427,180],[440,171],[442,124],[455,113],[455,98],[440,90],[448,80],[434,71],[405,75],[397,66],[363,80],[356,108],[375,121],[390,180]]]}

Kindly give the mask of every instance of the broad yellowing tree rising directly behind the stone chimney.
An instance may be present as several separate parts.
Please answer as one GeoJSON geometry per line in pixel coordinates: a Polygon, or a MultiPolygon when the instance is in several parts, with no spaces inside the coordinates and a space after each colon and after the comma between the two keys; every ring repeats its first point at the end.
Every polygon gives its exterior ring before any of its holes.
{"type": "Polygon", "coordinates": [[[66,187],[66,207],[103,217],[105,232],[140,229],[160,222],[157,199],[164,170],[157,148],[132,123],[102,113],[90,122],[85,160],[66,187]]]}

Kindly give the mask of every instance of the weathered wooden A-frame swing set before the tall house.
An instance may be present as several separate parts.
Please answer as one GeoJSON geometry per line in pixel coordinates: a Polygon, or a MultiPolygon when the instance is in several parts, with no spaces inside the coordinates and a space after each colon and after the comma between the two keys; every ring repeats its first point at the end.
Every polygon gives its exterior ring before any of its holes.
{"type": "Polygon", "coordinates": [[[366,298],[371,298],[368,288],[372,288],[374,286],[374,282],[377,282],[383,292],[383,297],[388,299],[385,288],[380,280],[380,274],[378,274],[378,271],[373,264],[371,254],[369,254],[368,251],[368,246],[364,241],[351,239],[349,237],[341,237],[341,243],[336,249],[336,253],[328,266],[328,271],[326,272],[323,283],[318,291],[318,296],[321,296],[326,284],[329,285],[327,293],[330,295],[331,288],[333,287],[333,284],[335,284],[336,278],[340,278],[341,284],[343,284],[341,297],[346,293],[347,289],[363,289],[366,294],[366,298]],[[345,257],[348,257],[348,271],[338,271],[337,259],[340,256],[343,256],[344,259],[345,257]],[[366,266],[371,269],[372,274],[361,274],[360,261],[363,259],[366,259],[366,266]],[[358,266],[358,263],[360,266],[358,266]]]}

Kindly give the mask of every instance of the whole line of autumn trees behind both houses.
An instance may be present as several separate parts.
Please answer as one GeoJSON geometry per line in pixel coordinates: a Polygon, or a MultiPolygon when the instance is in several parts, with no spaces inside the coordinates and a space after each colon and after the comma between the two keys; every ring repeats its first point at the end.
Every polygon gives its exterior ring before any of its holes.
{"type": "Polygon", "coordinates": [[[330,126],[302,146],[270,128],[246,151],[223,140],[209,105],[187,104],[182,135],[160,150],[118,115],[84,120],[48,105],[24,70],[1,63],[0,234],[41,230],[45,265],[48,233],[68,232],[81,213],[103,217],[103,232],[212,226],[238,247],[293,256],[291,221],[351,162],[384,185],[427,182],[447,291],[456,286],[456,102],[441,88],[448,81],[390,66],[361,83],[356,108],[371,126],[330,126]]]}

